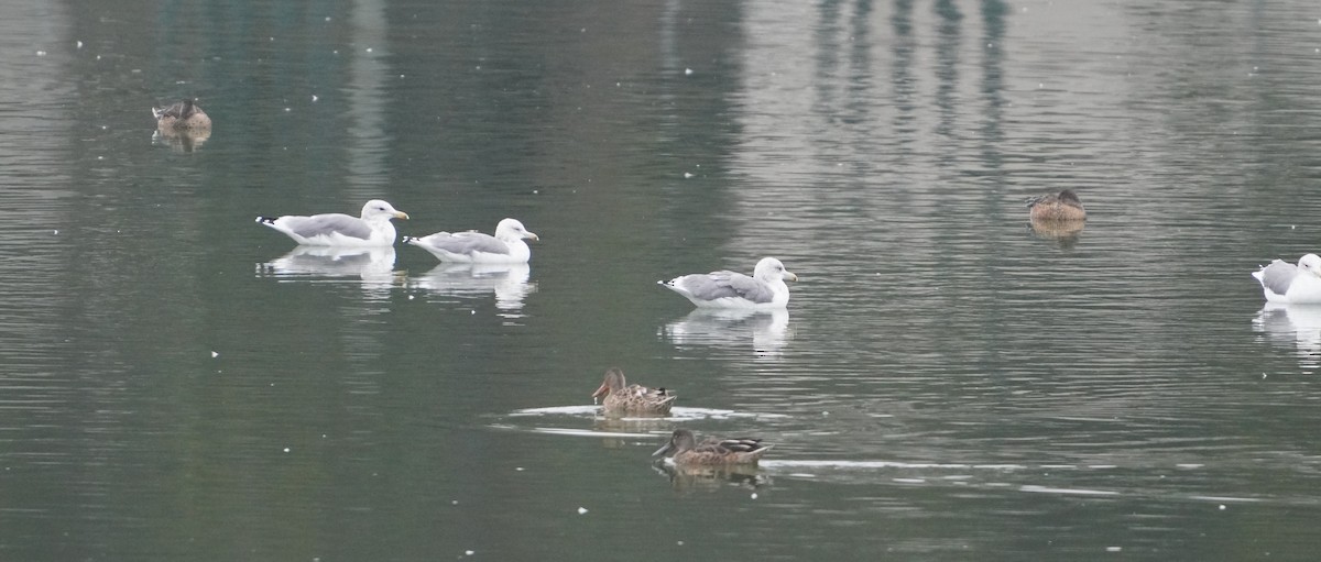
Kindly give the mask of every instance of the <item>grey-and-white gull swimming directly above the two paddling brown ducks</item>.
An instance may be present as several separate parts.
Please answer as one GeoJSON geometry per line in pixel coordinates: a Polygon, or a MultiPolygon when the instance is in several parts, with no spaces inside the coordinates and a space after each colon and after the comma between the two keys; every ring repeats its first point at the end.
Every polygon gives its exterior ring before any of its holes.
{"type": "Polygon", "coordinates": [[[789,285],[798,276],[785,270],[774,257],[764,257],[752,277],[720,270],[694,273],[659,281],[666,289],[684,296],[694,305],[711,309],[783,309],[789,305],[789,285]]]}

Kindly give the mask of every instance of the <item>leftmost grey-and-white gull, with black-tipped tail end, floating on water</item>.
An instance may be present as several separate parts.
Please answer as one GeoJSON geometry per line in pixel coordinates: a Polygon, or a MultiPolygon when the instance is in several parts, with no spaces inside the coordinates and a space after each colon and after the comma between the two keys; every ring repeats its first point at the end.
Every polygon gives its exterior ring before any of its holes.
{"type": "Polygon", "coordinates": [[[300,216],[258,216],[256,222],[284,232],[293,241],[306,245],[382,247],[395,244],[395,226],[390,219],[407,219],[390,203],[371,199],[362,206],[362,216],[338,212],[300,216]]]}

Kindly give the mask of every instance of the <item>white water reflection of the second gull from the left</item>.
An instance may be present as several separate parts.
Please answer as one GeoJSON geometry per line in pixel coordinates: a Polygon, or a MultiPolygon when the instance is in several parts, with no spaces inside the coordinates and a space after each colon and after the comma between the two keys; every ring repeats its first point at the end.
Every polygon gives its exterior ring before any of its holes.
{"type": "Polygon", "coordinates": [[[495,307],[517,313],[523,298],[536,292],[530,284],[527,264],[440,264],[436,269],[408,278],[408,286],[452,297],[485,297],[495,293],[495,307]]]}

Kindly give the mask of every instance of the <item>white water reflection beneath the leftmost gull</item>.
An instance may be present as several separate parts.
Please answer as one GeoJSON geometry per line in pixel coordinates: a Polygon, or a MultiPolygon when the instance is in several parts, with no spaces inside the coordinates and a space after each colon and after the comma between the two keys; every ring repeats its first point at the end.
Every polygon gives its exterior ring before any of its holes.
{"type": "Polygon", "coordinates": [[[388,292],[395,282],[395,248],[300,245],[258,265],[258,276],[281,281],[358,277],[365,289],[388,292]]]}

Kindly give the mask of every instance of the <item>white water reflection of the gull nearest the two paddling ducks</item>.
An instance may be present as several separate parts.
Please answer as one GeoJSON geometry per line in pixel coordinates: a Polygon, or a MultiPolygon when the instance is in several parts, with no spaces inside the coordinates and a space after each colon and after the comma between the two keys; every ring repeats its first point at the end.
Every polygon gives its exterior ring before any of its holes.
{"type": "Polygon", "coordinates": [[[758,356],[778,358],[793,338],[789,310],[697,309],[662,328],[675,346],[746,346],[758,356]]]}

